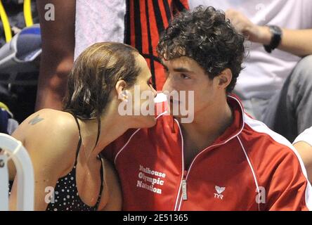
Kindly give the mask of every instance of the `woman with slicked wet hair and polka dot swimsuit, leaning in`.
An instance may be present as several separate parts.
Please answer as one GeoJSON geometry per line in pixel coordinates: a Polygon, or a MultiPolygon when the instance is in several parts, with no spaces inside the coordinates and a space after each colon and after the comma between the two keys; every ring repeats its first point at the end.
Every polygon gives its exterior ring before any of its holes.
{"type": "MultiPolygon", "coordinates": [[[[77,58],[63,110],[40,110],[13,133],[34,166],[34,210],[121,209],[117,175],[99,154],[127,129],[155,124],[154,115],[119,112],[125,102],[141,107],[129,98],[136,85],[152,96],[148,101],[154,104],[150,77],[143,56],[126,44],[93,44],[77,58]]],[[[11,210],[16,197],[14,182],[11,210]]]]}

